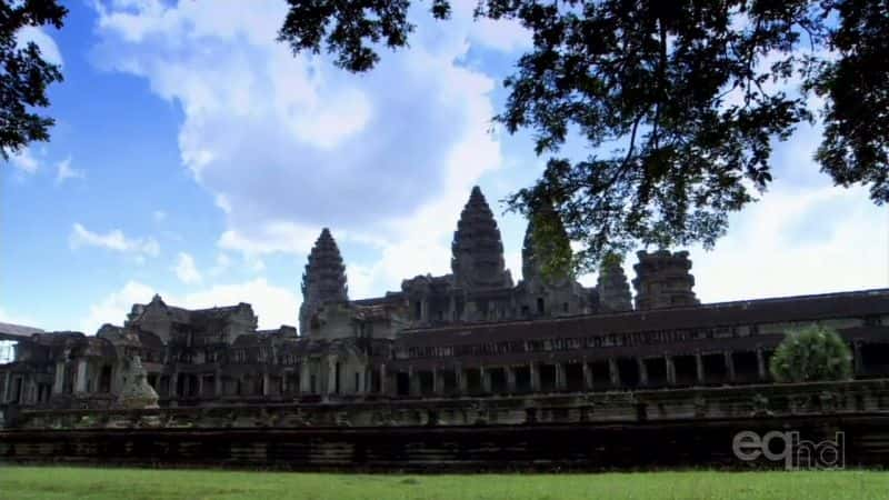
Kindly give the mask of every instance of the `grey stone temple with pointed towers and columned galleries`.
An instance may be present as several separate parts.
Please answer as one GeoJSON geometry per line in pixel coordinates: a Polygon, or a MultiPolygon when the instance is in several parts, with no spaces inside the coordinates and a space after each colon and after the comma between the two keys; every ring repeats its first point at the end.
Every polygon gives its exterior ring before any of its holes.
{"type": "Polygon", "coordinates": [[[248,303],[188,310],[159,296],[94,336],[0,324],[0,344],[12,347],[0,406],[114,408],[132,391],[163,408],[767,383],[783,333],[810,323],[840,332],[857,378],[889,374],[887,289],[701,304],[688,253],[659,250],[637,254],[633,298],[620,266],[585,288],[546,278],[533,247],[526,237],[516,283],[475,188],[451,273],[382,297],[349,298],[323,229],[302,276],[299,331],[259,330],[248,303]]]}

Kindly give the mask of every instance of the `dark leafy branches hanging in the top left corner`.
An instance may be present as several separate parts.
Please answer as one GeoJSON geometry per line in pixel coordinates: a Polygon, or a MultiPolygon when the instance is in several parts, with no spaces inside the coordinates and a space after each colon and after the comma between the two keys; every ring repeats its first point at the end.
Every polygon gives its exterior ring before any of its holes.
{"type": "Polygon", "coordinates": [[[62,27],[68,9],[56,0],[0,0],[0,157],[8,159],[31,141],[49,140],[52,118],[34,108],[49,106],[47,87],[62,80],[58,64],[43,59],[34,42],[21,47],[24,27],[62,27]]]}

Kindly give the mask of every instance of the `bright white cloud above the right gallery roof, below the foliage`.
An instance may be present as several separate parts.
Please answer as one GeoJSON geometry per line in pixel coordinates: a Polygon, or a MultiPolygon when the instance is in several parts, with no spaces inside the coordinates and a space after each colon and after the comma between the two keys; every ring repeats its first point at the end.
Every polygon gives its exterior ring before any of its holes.
{"type": "Polygon", "coordinates": [[[889,213],[862,188],[775,190],[691,258],[705,302],[887,287],[889,213]]]}

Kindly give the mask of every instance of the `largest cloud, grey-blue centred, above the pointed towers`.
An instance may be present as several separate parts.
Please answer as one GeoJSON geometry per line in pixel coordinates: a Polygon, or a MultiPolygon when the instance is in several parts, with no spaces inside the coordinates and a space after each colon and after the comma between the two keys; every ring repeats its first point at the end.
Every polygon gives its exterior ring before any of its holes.
{"type": "Polygon", "coordinates": [[[482,37],[472,2],[447,23],[424,12],[411,50],[383,50],[361,76],[326,56],[294,58],[274,41],[286,4],[251,7],[98,8],[103,63],[181,104],[182,162],[226,213],[222,250],[304,254],[324,226],[351,241],[402,241],[400,221],[461,206],[499,167],[495,80],[459,62],[482,37]]]}

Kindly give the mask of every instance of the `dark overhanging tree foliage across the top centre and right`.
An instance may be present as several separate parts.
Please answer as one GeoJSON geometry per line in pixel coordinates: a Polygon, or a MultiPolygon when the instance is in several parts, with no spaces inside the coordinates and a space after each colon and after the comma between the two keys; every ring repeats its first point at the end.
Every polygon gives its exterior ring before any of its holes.
{"type": "MultiPolygon", "coordinates": [[[[289,4],[279,39],[294,52],[323,44],[350,71],[413,28],[409,0],[289,4]]],[[[430,6],[447,18],[447,0],[430,6]]],[[[818,111],[822,170],[889,200],[889,0],[480,0],[476,14],[533,36],[496,120],[533,130],[551,158],[508,203],[555,202],[581,263],[639,244],[711,247],[771,181],[773,141],[818,111]],[[559,157],[575,134],[595,151],[582,161],[559,157]]]]}

